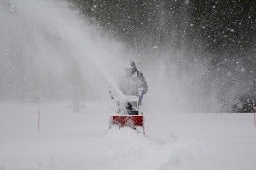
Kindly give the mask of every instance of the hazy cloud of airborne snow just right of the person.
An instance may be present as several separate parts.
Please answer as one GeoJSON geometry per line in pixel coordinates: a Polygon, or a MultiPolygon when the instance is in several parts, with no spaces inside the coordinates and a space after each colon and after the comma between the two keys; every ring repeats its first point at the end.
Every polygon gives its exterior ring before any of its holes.
{"type": "Polygon", "coordinates": [[[215,111],[214,93],[217,89],[210,83],[207,61],[174,54],[175,49],[160,53],[154,50],[148,53],[147,57],[151,59],[147,65],[141,65],[149,87],[143,100],[147,112],[215,111]],[[207,91],[208,88],[211,91],[207,91]]]}

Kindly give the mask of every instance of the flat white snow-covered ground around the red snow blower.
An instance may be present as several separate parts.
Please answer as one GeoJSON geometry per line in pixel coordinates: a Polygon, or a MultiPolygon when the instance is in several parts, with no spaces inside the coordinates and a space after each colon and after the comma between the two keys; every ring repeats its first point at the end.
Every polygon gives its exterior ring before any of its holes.
{"type": "Polygon", "coordinates": [[[146,136],[108,130],[110,103],[0,105],[0,170],[256,168],[253,114],[144,112],[146,136]]]}

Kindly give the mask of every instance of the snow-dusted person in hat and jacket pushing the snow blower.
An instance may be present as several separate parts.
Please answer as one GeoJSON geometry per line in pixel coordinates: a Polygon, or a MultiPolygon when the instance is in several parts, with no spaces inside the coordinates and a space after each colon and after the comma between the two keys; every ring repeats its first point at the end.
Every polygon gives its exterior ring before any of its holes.
{"type": "MultiPolygon", "coordinates": [[[[148,91],[148,85],[143,73],[137,70],[135,62],[130,60],[125,65],[125,74],[119,82],[119,89],[125,96],[137,96],[139,99],[138,105],[142,105],[143,95],[148,91]]],[[[112,99],[115,99],[112,89],[109,90],[112,99]]],[[[127,103],[126,109],[131,111],[131,103],[127,103]]]]}

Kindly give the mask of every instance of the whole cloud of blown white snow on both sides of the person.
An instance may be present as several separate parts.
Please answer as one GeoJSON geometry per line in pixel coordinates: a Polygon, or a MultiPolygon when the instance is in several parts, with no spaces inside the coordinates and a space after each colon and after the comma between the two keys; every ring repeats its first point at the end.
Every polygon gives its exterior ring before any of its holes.
{"type": "Polygon", "coordinates": [[[4,0],[0,20],[2,101],[109,100],[109,86],[122,94],[117,77],[134,59],[148,82],[142,109],[216,111],[222,77],[210,77],[207,61],[154,42],[127,49],[64,0],[4,0]]]}

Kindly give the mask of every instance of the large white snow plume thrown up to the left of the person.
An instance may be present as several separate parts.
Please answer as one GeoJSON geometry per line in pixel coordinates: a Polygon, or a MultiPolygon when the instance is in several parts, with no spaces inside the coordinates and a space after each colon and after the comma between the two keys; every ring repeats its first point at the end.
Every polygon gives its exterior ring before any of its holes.
{"type": "Polygon", "coordinates": [[[65,1],[0,2],[0,99],[108,99],[125,48],[65,1]]]}

